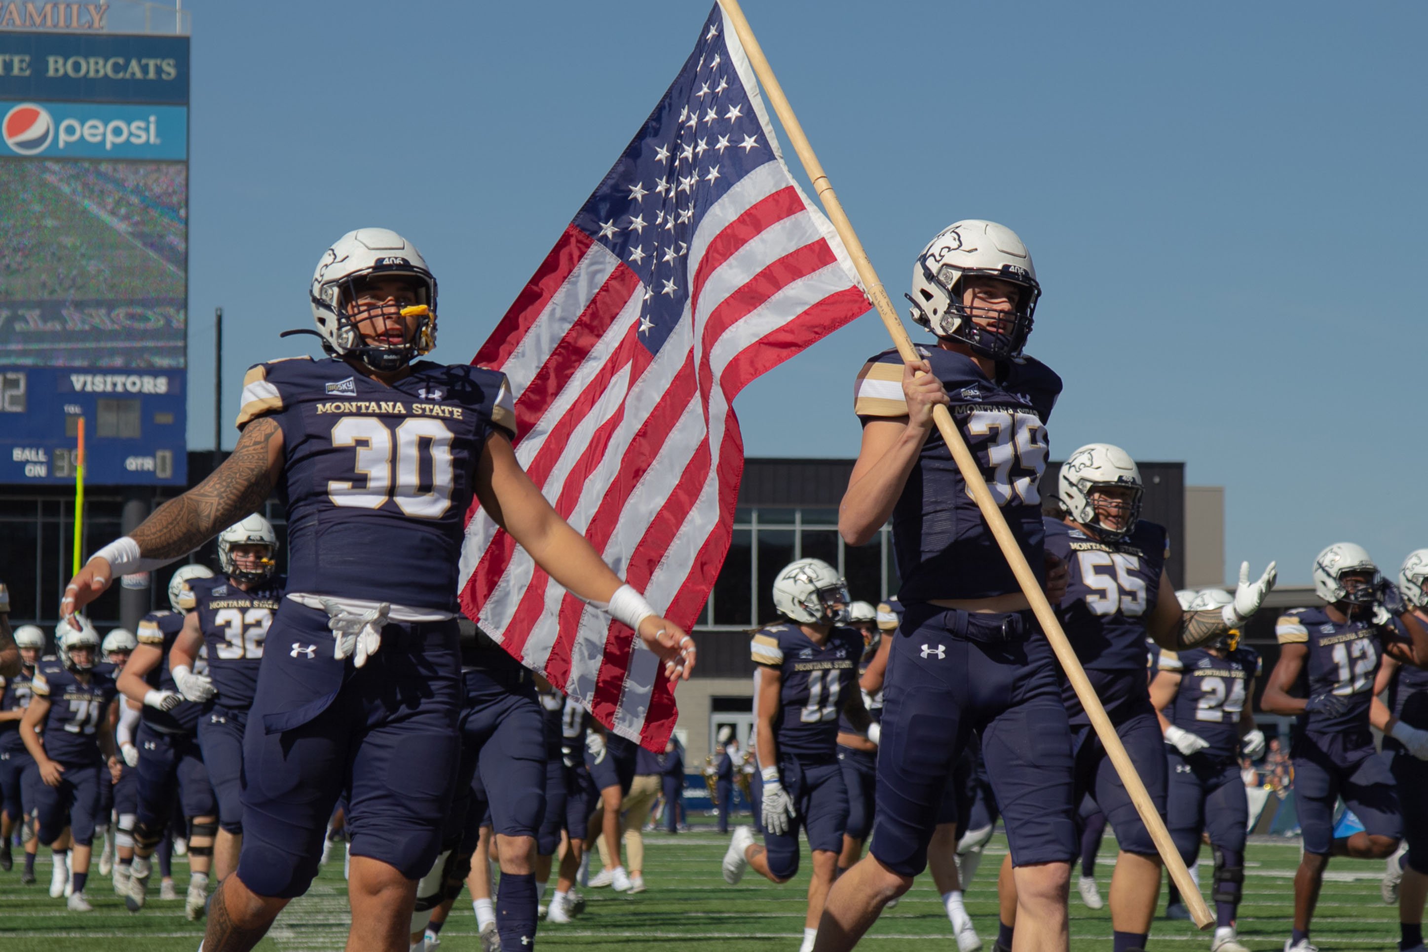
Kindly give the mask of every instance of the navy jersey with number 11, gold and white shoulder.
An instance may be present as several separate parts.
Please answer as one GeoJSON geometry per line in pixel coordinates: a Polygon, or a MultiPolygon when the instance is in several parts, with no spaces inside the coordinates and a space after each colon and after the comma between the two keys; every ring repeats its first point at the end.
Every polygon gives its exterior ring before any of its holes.
{"type": "Polygon", "coordinates": [[[750,648],[755,664],[783,674],[774,721],[778,756],[837,756],[838,714],[848,692],[858,689],[863,635],[840,627],[817,645],[797,625],[770,625],[754,635],[750,648]]]}

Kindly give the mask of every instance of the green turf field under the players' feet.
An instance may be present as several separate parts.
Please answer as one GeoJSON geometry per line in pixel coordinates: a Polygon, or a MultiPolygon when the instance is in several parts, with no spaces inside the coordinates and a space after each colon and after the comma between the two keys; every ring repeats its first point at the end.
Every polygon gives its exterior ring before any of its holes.
{"type": "MultiPolygon", "coordinates": [[[[807,871],[784,886],[770,885],[754,873],[747,875],[738,886],[728,886],[720,876],[727,838],[714,832],[678,836],[647,834],[645,844],[647,892],[623,896],[610,889],[585,889],[588,905],[584,915],[565,926],[543,923],[540,943],[550,948],[608,951],[677,946],[710,952],[794,952],[798,948],[803,938],[807,871]]],[[[1005,839],[998,835],[988,845],[990,855],[967,896],[967,911],[988,952],[997,935],[995,871],[1004,852],[1005,839]]],[[[1097,866],[1102,895],[1110,885],[1108,861],[1114,855],[1114,841],[1108,836],[1101,851],[1102,862],[1097,866]]],[[[1248,948],[1257,952],[1284,948],[1289,931],[1291,878],[1298,859],[1297,839],[1261,839],[1250,845],[1245,902],[1240,909],[1240,935],[1248,948]]],[[[1208,851],[1205,865],[1208,866],[1208,851]]],[[[187,882],[183,861],[174,861],[174,872],[181,893],[187,882]]],[[[1331,864],[1314,922],[1315,945],[1335,952],[1397,948],[1398,913],[1378,896],[1381,872],[1381,862],[1335,859],[1331,864]]],[[[191,952],[198,945],[198,925],[183,919],[183,902],[151,899],[143,913],[130,915],[113,895],[109,881],[97,879],[91,881],[89,889],[94,912],[70,915],[64,911],[63,901],[49,896],[47,861],[41,858],[37,866],[37,885],[21,888],[19,875],[19,864],[13,872],[0,873],[0,949],[4,952],[191,952]]],[[[1205,886],[1208,891],[1208,876],[1205,886]]],[[[258,948],[340,949],[346,935],[347,905],[341,862],[333,862],[323,869],[313,891],[288,906],[258,948]]],[[[463,896],[458,902],[441,939],[441,952],[480,948],[468,898],[463,896]]],[[[957,946],[931,879],[918,879],[895,909],[884,912],[861,948],[955,952],[957,946]]],[[[1105,909],[1091,912],[1082,906],[1074,888],[1071,948],[1111,948],[1110,913],[1105,909]]],[[[1148,948],[1180,952],[1208,949],[1210,935],[1197,933],[1188,922],[1157,919],[1148,948]]]]}

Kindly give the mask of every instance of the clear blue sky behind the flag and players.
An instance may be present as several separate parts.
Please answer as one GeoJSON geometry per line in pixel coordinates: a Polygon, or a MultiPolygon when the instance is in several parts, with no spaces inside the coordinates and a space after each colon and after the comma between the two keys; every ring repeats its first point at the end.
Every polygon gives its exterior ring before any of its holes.
{"type": "MultiPolygon", "coordinates": [[[[304,353],[321,251],[367,224],[441,283],[468,360],[693,49],[708,4],[218,3],[193,10],[190,445],[256,361],[304,353]]],[[[945,224],[1015,228],[1090,441],[1227,490],[1227,564],[1308,582],[1352,540],[1397,574],[1414,485],[1428,196],[1415,3],[747,0],[894,300],[945,224]],[[1417,63],[1417,66],[1415,66],[1417,63]],[[1399,500],[1399,492],[1407,492],[1399,500]]],[[[791,157],[791,150],[785,154],[791,157]]],[[[308,338],[310,340],[310,338],[308,338]]],[[[735,402],[750,455],[857,452],[874,315],[735,402]]],[[[236,431],[226,424],[224,445],[236,431]]]]}

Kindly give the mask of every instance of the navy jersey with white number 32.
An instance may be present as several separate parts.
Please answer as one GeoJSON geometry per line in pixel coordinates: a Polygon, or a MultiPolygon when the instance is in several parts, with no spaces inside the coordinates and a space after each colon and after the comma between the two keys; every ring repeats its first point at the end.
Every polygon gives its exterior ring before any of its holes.
{"type": "MultiPolygon", "coordinates": [[[[178,607],[198,612],[208,678],[218,689],[217,702],[230,711],[253,707],[263,642],[283,601],[284,584],[286,579],[276,575],[266,585],[243,591],[227,578],[191,578],[178,592],[178,607]]],[[[164,652],[167,659],[167,648],[164,652]]]]}

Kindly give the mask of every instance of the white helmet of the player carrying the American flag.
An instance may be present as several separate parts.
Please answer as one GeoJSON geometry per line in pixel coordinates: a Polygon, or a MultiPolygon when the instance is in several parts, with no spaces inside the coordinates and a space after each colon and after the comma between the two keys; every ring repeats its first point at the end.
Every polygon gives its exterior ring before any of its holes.
{"type": "MultiPolygon", "coordinates": [[[[972,351],[997,360],[1015,358],[1031,335],[1032,314],[1041,285],[1031,253],[1007,226],[965,218],[942,228],[912,264],[912,320],[938,337],[962,341],[972,351]],[[962,305],[962,278],[988,277],[1022,288],[1007,333],[990,331],[972,321],[962,305]]],[[[981,315],[980,315],[981,317],[981,315]]]]}

